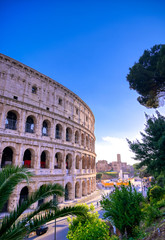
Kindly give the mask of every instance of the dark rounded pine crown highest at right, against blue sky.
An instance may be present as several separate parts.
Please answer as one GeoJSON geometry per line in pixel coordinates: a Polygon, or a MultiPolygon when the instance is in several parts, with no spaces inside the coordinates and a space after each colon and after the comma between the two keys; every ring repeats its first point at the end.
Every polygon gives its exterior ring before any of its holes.
{"type": "Polygon", "coordinates": [[[139,61],[129,68],[127,75],[130,89],[140,96],[140,104],[148,108],[160,106],[165,92],[165,45],[159,44],[145,50],[139,61]]]}

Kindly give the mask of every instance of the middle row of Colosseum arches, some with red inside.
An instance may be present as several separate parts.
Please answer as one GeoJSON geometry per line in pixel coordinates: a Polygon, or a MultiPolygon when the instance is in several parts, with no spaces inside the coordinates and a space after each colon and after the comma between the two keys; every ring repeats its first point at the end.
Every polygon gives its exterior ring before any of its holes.
{"type": "MultiPolygon", "coordinates": [[[[1,159],[1,168],[6,165],[14,164],[14,155],[16,154],[16,150],[13,147],[6,147],[2,152],[1,159]]],[[[54,169],[95,169],[95,159],[91,156],[82,156],[80,158],[79,155],[75,156],[75,165],[73,165],[73,156],[71,153],[68,153],[66,157],[63,157],[61,152],[56,152],[54,157],[51,157],[49,151],[44,150],[40,155],[40,168],[50,168],[51,161],[54,163],[54,169]],[[54,159],[53,159],[54,158],[54,159]]],[[[27,148],[23,154],[23,165],[26,168],[35,168],[35,150],[27,148]]]]}

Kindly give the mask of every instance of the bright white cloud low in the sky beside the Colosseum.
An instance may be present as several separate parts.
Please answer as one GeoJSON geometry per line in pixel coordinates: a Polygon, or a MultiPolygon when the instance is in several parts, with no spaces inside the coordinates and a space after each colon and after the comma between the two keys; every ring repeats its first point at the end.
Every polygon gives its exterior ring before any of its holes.
{"type": "MultiPolygon", "coordinates": [[[[135,137],[134,140],[139,136],[135,137]]],[[[102,141],[96,141],[97,160],[107,160],[108,162],[116,161],[117,154],[121,155],[121,161],[128,164],[134,164],[134,154],[129,149],[127,140],[125,138],[116,137],[102,137],[102,141]]]]}

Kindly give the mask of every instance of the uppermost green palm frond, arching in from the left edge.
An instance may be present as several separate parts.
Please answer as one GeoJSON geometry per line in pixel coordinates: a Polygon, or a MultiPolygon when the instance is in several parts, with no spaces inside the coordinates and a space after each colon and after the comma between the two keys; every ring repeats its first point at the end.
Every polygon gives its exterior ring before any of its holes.
{"type": "Polygon", "coordinates": [[[9,199],[14,188],[22,180],[29,181],[32,174],[26,168],[18,166],[6,166],[0,172],[0,210],[9,199]]]}

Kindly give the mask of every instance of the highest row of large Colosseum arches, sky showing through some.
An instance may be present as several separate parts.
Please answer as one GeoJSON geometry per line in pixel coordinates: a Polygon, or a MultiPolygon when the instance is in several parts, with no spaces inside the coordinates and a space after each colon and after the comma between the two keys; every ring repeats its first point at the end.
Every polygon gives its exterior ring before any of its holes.
{"type": "MultiPolygon", "coordinates": [[[[11,130],[18,129],[18,119],[19,114],[16,111],[8,111],[6,120],[5,120],[5,128],[11,130]]],[[[30,115],[26,118],[25,122],[25,132],[26,133],[35,133],[37,131],[37,120],[34,116],[30,115]]],[[[51,135],[51,123],[50,121],[44,120],[41,126],[41,134],[42,136],[50,136],[51,135]]],[[[65,139],[67,142],[74,142],[75,144],[79,144],[81,146],[87,147],[88,149],[94,149],[94,139],[92,139],[88,134],[81,133],[76,130],[73,133],[71,127],[66,128],[66,132],[64,135],[64,130],[62,124],[58,123],[55,126],[55,139],[65,139]],[[74,139],[73,139],[74,138],[74,139]]]]}

